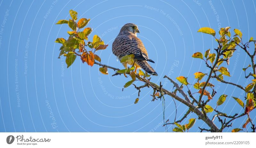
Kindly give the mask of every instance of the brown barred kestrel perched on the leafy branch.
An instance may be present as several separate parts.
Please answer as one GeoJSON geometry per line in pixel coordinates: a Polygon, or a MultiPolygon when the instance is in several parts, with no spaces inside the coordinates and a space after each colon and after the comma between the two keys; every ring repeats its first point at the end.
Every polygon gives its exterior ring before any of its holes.
{"type": "Polygon", "coordinates": [[[137,37],[137,33],[140,33],[137,25],[133,23],[125,24],[112,44],[112,52],[119,61],[126,55],[134,55],[133,63],[131,61],[122,62],[125,69],[127,69],[127,64],[129,64],[135,67],[135,73],[137,69],[142,68],[148,74],[158,76],[156,71],[148,64],[148,61],[155,62],[148,58],[148,52],[142,41],[137,37]]]}

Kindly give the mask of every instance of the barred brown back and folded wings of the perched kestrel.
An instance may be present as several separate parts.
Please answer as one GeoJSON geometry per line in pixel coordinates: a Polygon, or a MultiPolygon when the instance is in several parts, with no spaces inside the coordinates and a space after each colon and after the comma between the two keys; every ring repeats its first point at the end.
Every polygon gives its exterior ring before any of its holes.
{"type": "Polygon", "coordinates": [[[112,45],[114,55],[122,57],[133,54],[134,59],[149,60],[148,52],[142,41],[135,35],[124,34],[116,37],[112,45]]]}

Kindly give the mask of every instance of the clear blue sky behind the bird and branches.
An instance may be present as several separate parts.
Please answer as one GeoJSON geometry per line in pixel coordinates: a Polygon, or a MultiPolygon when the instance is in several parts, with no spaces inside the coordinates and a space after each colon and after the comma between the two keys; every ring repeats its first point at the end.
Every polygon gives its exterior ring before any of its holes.
{"type": "MultiPolygon", "coordinates": [[[[66,38],[69,28],[67,24],[55,23],[68,19],[70,9],[77,11],[79,18],[91,18],[88,26],[93,28],[92,35],[100,35],[109,44],[106,50],[97,52],[102,63],[120,69],[123,66],[112,54],[112,42],[124,24],[137,24],[140,29],[138,37],[147,48],[149,57],[156,62],[151,63],[158,73],[151,79],[156,83],[164,83],[164,75],[169,75],[172,79],[188,77],[188,81],[194,84],[195,72],[209,70],[202,60],[191,57],[195,52],[204,52],[209,48],[213,52],[217,48],[211,35],[197,33],[201,27],[208,26],[218,32],[219,27],[231,26],[231,30],[242,30],[244,41],[251,36],[256,38],[256,10],[252,0],[212,1],[212,4],[203,0],[2,0],[0,8],[1,132],[165,131],[162,127],[162,102],[151,101],[152,89],[143,89],[140,101],[134,104],[137,90],[131,85],[122,92],[122,87],[130,78],[111,77],[114,74],[112,70],[109,70],[109,75],[103,75],[97,65],[89,67],[78,58],[67,69],[65,60],[57,58],[60,44],[54,41],[58,37],[66,38]],[[47,14],[47,11],[50,13],[47,14]]],[[[92,40],[92,35],[89,40],[92,40]]],[[[224,79],[246,85],[242,68],[248,64],[248,56],[244,51],[237,50],[230,64],[223,64],[232,75],[224,79]]],[[[215,80],[211,83],[217,90],[210,102],[212,107],[216,107],[216,101],[225,92],[227,100],[217,109],[231,115],[244,112],[231,98],[243,99],[240,89],[215,80]]],[[[166,81],[165,85],[172,91],[170,82],[166,81]]],[[[192,92],[196,90],[192,88],[192,92]]],[[[178,101],[176,103],[177,119],[180,119],[188,108],[178,101]]],[[[214,114],[208,115],[212,118],[214,114]]],[[[250,115],[255,122],[255,110],[250,115]]],[[[166,96],[165,118],[173,122],[174,116],[172,98],[166,96]]],[[[190,118],[196,118],[196,115],[190,114],[182,124],[188,123],[190,118]]],[[[233,127],[225,131],[242,128],[246,119],[244,116],[236,120],[233,127]]],[[[204,122],[197,120],[190,131],[198,132],[198,126],[207,128],[204,122]]],[[[172,126],[168,127],[172,131],[172,126]]]]}

